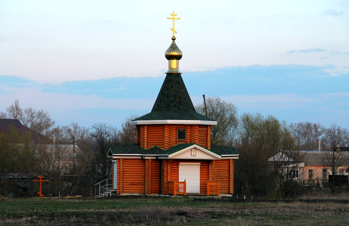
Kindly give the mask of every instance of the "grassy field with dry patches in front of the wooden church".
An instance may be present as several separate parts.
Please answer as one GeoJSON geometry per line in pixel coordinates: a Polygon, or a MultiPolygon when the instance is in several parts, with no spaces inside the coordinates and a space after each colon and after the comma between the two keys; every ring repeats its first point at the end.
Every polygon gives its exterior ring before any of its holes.
{"type": "Polygon", "coordinates": [[[206,199],[3,199],[0,225],[349,225],[349,203],[336,200],[198,200],[206,199]]]}

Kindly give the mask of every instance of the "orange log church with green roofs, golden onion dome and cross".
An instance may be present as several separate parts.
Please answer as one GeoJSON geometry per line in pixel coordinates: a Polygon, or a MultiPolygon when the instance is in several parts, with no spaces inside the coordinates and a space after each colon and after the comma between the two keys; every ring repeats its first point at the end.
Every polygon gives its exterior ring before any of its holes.
{"type": "Polygon", "coordinates": [[[235,148],[211,145],[217,122],[195,111],[178,69],[174,37],[165,52],[164,83],[149,114],[131,121],[136,143],[111,147],[112,189],[117,195],[225,195],[234,193],[235,148]]]}

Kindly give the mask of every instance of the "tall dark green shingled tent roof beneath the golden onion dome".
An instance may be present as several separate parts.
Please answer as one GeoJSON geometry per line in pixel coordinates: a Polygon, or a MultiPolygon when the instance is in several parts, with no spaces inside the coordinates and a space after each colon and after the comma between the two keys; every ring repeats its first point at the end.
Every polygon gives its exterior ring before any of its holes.
{"type": "Polygon", "coordinates": [[[179,73],[168,73],[150,113],[138,120],[204,120],[215,121],[195,111],[179,73]]]}

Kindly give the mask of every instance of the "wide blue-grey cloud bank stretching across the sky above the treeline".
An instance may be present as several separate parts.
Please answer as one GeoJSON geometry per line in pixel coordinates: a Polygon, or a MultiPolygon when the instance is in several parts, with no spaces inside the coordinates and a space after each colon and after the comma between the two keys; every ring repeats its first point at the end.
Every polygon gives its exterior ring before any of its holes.
{"type": "MultiPolygon", "coordinates": [[[[346,70],[346,69],[343,69],[346,70]]],[[[272,114],[287,122],[334,123],[349,127],[349,75],[333,65],[286,64],[225,67],[182,74],[194,104],[202,94],[236,104],[240,113],[272,114]],[[331,76],[329,70],[336,72],[331,76]],[[323,109],[333,109],[328,113],[323,109]]],[[[21,107],[47,110],[61,125],[77,122],[89,127],[106,122],[120,125],[131,112],[151,110],[164,76],[45,83],[0,76],[0,110],[14,99],[21,107]]]]}

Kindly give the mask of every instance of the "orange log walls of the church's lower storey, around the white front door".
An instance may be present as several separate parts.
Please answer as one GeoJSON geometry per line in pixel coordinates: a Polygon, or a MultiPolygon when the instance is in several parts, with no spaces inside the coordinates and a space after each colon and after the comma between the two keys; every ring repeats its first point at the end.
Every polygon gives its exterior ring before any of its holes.
{"type": "MultiPolygon", "coordinates": [[[[178,181],[179,163],[191,160],[117,159],[117,193],[168,194],[168,181],[178,181]],[[144,165],[145,163],[145,165],[144,165]],[[161,176],[159,175],[161,165],[161,176]],[[145,173],[144,173],[145,170],[145,173]],[[146,179],[144,186],[144,177],[146,179]],[[161,178],[161,185],[159,181],[161,178]]],[[[200,193],[207,194],[207,181],[220,182],[221,194],[233,193],[233,159],[200,162],[200,193]]]]}

